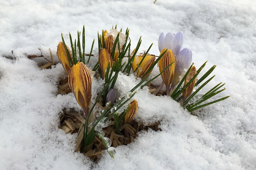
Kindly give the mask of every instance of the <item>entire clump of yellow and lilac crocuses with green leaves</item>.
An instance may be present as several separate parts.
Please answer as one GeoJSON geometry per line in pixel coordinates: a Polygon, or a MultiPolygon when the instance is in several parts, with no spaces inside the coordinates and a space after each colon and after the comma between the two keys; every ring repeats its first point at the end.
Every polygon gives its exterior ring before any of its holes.
{"type": "Polygon", "coordinates": [[[131,123],[138,111],[137,101],[133,100],[130,102],[136,93],[135,90],[138,87],[142,88],[143,86],[147,86],[158,76],[161,76],[163,81],[162,84],[159,85],[159,88],[156,89],[155,94],[157,94],[162,89],[162,86],[165,85],[166,95],[170,96],[177,102],[181,102],[182,106],[188,109],[188,111],[194,111],[210,104],[220,102],[229,97],[226,96],[206,104],[201,104],[225,90],[218,90],[224,85],[221,85],[220,83],[204,94],[199,100],[191,102],[191,99],[199,92],[199,90],[210,82],[214,76],[200,85],[199,88],[196,88],[195,91],[194,87],[197,87],[201,82],[203,82],[216,66],[212,66],[212,68],[210,68],[210,70],[208,70],[200,79],[196,79],[207,61],[198,70],[196,70],[193,63],[191,64],[192,51],[187,48],[182,49],[184,41],[182,31],[179,31],[176,34],[167,33],[165,36],[164,33],[161,33],[158,40],[160,56],[156,57],[148,54],[153,44],[150,45],[145,53],[136,55],[142,42],[141,37],[136,48],[131,53],[129,29],[127,28],[125,33],[122,33],[122,29],[118,31],[115,27],[112,28],[109,33],[106,30],[102,31],[102,34],[98,33],[98,62],[92,68],[92,71],[100,73],[100,78],[104,80],[104,86],[102,87],[102,91],[98,94],[96,101],[91,107],[89,107],[92,97],[92,76],[90,75],[90,69],[86,64],[90,61],[94,41],[86,63],[86,54],[84,51],[84,28],[82,32],[82,43],[80,42],[80,32],[78,32],[77,41],[75,39],[73,42],[72,36],[69,35],[69,37],[72,52],[66,45],[62,35],[62,42],[58,44],[57,55],[64,70],[68,74],[68,84],[70,89],[74,93],[78,104],[84,111],[85,122],[82,140],[83,152],[90,149],[94,138],[97,136],[102,140],[105,148],[113,157],[114,149],[110,147],[110,139],[104,137],[104,132],[102,131],[102,128],[99,128],[99,124],[108,123],[111,119],[113,120],[112,122],[115,133],[120,133],[120,126],[123,127],[123,125],[131,123]],[[123,62],[124,57],[127,57],[127,62],[123,62]],[[159,66],[160,73],[149,79],[156,64],[159,66]],[[130,94],[127,96],[121,96],[116,100],[115,83],[118,79],[118,74],[122,72],[129,76],[130,74],[133,74],[131,73],[131,70],[138,79],[140,79],[140,82],[130,90],[130,94]],[[89,117],[93,114],[94,107],[100,99],[102,103],[101,108],[103,109],[100,111],[100,114],[96,119],[89,121],[89,117]],[[130,104],[128,104],[129,102],[130,104]],[[127,109],[120,109],[124,106],[127,106],[127,109]]]}

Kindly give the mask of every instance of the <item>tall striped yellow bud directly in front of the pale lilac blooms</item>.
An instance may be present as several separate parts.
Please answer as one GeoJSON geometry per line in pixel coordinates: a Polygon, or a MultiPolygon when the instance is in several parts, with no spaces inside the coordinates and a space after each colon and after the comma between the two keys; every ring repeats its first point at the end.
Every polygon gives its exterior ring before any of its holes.
{"type": "MultiPolygon", "coordinates": [[[[162,53],[164,53],[165,50],[166,49],[163,49],[162,52],[160,53],[160,55],[162,53]]],[[[171,50],[168,49],[166,51],[164,56],[159,60],[158,65],[159,65],[159,71],[162,72],[161,77],[166,86],[166,95],[168,95],[170,92],[170,84],[172,83],[172,79],[174,77],[174,70],[175,70],[175,65],[176,65],[176,59],[171,50]],[[174,62],[174,63],[172,63],[172,62],[174,62]],[[162,70],[164,68],[166,68],[171,63],[172,63],[172,65],[170,67],[168,67],[164,72],[162,72],[162,70]]]]}

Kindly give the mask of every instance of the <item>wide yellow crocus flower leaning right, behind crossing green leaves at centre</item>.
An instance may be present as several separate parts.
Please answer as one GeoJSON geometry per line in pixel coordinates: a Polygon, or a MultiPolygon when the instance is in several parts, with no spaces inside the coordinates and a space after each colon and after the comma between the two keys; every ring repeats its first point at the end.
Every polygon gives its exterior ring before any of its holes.
{"type": "MultiPolygon", "coordinates": [[[[132,62],[132,70],[136,70],[138,67],[138,64],[140,64],[140,61],[142,60],[142,56],[135,56],[134,60],[132,62]]],[[[142,77],[144,74],[148,71],[148,68],[152,66],[152,64],[155,62],[155,56],[154,55],[146,55],[142,63],[140,64],[140,67],[137,69],[137,77],[142,77]]],[[[148,76],[153,69],[148,72],[144,77],[148,76]]]]}

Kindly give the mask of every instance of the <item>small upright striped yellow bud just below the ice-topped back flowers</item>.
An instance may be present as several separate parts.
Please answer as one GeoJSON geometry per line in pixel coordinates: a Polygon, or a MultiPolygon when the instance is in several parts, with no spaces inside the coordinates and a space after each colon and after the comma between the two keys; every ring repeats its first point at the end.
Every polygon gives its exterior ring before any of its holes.
{"type": "Polygon", "coordinates": [[[108,68],[108,63],[110,63],[110,68],[112,67],[113,60],[106,49],[101,49],[99,54],[99,65],[101,69],[101,75],[104,79],[106,76],[106,69],[108,68]]]}

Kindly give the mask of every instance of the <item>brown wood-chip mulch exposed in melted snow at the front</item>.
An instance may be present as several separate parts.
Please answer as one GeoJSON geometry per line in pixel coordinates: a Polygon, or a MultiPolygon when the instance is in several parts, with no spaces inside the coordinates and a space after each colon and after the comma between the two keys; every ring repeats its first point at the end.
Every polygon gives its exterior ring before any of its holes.
{"type": "MultiPolygon", "coordinates": [[[[147,131],[148,129],[153,129],[155,131],[160,130],[158,127],[160,122],[156,122],[149,126],[144,126],[143,124],[133,120],[130,124],[121,125],[120,131],[117,134],[115,133],[113,119],[110,119],[110,121],[111,122],[108,124],[108,126],[103,128],[102,131],[105,133],[105,137],[108,137],[111,140],[111,146],[115,148],[120,145],[128,145],[129,143],[134,142],[134,139],[137,137],[139,131],[147,131]]],[[[85,119],[81,116],[81,113],[74,110],[64,110],[64,114],[62,114],[60,117],[60,129],[64,130],[66,133],[78,133],[75,152],[81,152],[84,123],[85,119]]],[[[97,161],[101,158],[101,154],[105,149],[106,148],[104,147],[102,141],[98,137],[95,137],[90,150],[88,150],[88,152],[84,152],[83,154],[88,156],[90,159],[97,161]]]]}

